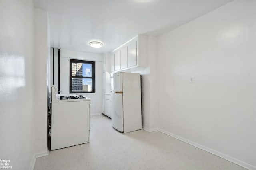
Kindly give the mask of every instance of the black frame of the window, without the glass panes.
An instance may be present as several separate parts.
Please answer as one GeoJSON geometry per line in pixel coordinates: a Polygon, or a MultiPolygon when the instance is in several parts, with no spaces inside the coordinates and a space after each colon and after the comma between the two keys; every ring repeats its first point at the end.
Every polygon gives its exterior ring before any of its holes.
{"type": "Polygon", "coordinates": [[[69,92],[70,93],[95,93],[95,61],[87,60],[69,60],[69,92]],[[83,64],[92,64],[92,77],[83,77],[83,76],[72,76],[72,63],[83,63],[83,64]],[[91,92],[73,92],[72,91],[72,78],[91,78],[92,79],[92,91],[91,92]]]}

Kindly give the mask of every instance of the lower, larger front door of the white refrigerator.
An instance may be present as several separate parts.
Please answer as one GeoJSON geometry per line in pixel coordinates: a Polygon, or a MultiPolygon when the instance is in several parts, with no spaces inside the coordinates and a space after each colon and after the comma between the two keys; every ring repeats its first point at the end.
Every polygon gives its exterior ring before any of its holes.
{"type": "Polygon", "coordinates": [[[111,93],[111,123],[118,131],[124,131],[123,122],[123,95],[122,93],[111,93]]]}

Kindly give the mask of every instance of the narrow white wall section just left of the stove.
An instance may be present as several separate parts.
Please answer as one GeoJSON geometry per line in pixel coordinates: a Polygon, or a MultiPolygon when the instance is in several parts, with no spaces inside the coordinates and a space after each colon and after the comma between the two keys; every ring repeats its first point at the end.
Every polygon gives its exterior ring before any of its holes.
{"type": "Polygon", "coordinates": [[[35,152],[47,149],[47,60],[49,57],[48,13],[35,9],[35,152]]]}

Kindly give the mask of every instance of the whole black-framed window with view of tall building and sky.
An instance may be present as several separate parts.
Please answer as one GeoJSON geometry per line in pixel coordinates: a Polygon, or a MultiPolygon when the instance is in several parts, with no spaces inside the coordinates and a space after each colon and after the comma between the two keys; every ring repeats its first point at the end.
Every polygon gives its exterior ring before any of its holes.
{"type": "Polygon", "coordinates": [[[95,62],[70,59],[70,93],[95,92],[95,62]]]}

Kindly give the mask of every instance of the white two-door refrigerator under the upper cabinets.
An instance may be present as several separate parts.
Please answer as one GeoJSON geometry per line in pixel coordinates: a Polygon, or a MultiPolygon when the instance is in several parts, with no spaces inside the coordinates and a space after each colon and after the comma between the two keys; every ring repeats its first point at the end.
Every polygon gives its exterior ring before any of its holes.
{"type": "Polygon", "coordinates": [[[111,124],[120,132],[142,129],[140,73],[113,74],[111,124]]]}

